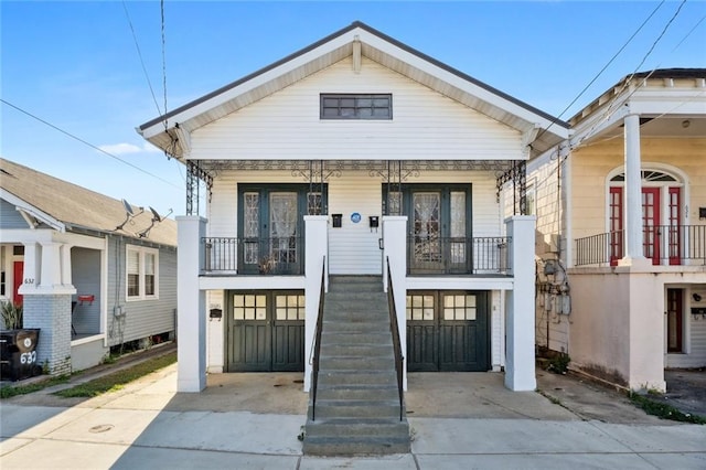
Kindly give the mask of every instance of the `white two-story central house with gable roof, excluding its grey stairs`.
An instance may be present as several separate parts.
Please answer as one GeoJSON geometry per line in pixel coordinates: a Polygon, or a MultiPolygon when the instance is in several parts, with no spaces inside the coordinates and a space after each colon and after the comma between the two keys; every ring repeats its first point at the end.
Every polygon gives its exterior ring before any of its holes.
{"type": "Polygon", "coordinates": [[[139,126],[188,168],[179,391],[291,370],[309,391],[322,279],[386,290],[388,263],[405,373],[534,389],[524,164],[567,128],[361,22],[139,126]]]}

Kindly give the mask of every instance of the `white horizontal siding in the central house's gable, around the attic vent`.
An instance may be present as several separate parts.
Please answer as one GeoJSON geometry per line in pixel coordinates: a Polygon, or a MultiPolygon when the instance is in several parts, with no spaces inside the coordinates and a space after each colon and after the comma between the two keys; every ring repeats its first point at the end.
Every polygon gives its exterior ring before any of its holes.
{"type": "Polygon", "coordinates": [[[192,159],[522,159],[520,132],[370,60],[344,60],[192,132],[192,159]],[[392,93],[392,120],[321,120],[321,93],[392,93]]]}

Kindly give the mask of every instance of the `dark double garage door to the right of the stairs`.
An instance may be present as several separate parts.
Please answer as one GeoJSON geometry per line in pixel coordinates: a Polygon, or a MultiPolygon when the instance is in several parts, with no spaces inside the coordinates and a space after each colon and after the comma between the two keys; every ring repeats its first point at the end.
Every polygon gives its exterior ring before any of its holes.
{"type": "Polygon", "coordinates": [[[407,370],[488,371],[488,292],[407,295],[407,370]]]}

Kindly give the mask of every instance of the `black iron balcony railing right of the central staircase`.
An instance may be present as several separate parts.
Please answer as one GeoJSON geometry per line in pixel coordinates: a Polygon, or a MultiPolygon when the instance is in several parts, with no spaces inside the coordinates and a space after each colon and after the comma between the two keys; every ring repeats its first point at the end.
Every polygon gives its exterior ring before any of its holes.
{"type": "Polygon", "coordinates": [[[510,237],[437,237],[407,239],[409,274],[510,275],[510,237]]]}

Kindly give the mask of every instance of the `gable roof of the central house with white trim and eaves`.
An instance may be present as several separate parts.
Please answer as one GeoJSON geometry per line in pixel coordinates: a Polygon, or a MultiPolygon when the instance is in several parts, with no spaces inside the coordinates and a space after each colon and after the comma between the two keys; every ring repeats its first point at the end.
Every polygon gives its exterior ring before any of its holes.
{"type": "Polygon", "coordinates": [[[173,157],[182,158],[184,148],[189,146],[189,132],[353,55],[355,43],[360,43],[363,56],[521,132],[534,136],[537,129],[546,129],[539,132],[538,141],[528,142],[536,151],[543,151],[568,137],[568,124],[565,121],[422,54],[360,21],[274,64],[145,122],[137,128],[137,131],[173,157]]]}

